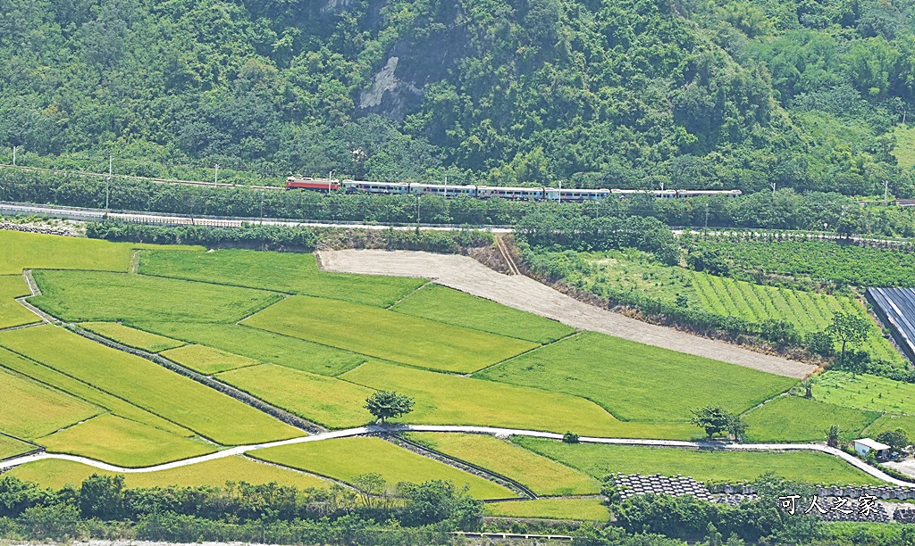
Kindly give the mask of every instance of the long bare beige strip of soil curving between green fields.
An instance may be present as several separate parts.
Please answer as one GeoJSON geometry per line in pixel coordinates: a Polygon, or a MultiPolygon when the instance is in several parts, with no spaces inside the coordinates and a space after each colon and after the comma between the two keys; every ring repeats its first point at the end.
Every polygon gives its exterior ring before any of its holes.
{"type": "Polygon", "coordinates": [[[579,330],[599,331],[787,377],[802,378],[815,370],[803,362],[748,351],[724,341],[708,340],[602,310],[532,278],[502,275],[469,257],[405,250],[332,250],[318,255],[321,267],[328,271],[431,278],[447,287],[558,320],[579,330]]]}

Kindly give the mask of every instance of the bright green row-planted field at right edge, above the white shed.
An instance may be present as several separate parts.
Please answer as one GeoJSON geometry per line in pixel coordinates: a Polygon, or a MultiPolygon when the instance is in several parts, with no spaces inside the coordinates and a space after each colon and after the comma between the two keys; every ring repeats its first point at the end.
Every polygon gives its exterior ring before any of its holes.
{"type": "Polygon", "coordinates": [[[915,415],[915,384],[867,373],[856,377],[847,372],[823,373],[813,386],[813,396],[845,407],[915,415]]]}

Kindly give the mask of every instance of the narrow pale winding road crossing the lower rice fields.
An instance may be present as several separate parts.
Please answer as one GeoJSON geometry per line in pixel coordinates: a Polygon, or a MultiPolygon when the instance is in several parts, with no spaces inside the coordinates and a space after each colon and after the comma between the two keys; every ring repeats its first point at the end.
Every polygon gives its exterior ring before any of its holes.
{"type": "MultiPolygon", "coordinates": [[[[171,463],[166,463],[164,465],[156,465],[154,467],[142,467],[142,468],[126,468],[126,467],[117,467],[114,465],[109,465],[108,463],[103,463],[95,459],[88,457],[77,457],[72,455],[56,454],[56,453],[41,453],[38,455],[28,455],[25,457],[15,457],[7,459],[5,461],[0,461],[0,470],[5,470],[7,468],[18,467],[20,465],[25,465],[27,463],[48,460],[48,459],[59,459],[73,461],[77,463],[82,463],[84,465],[89,465],[90,467],[99,468],[100,470],[108,470],[110,472],[118,472],[122,474],[138,474],[138,473],[147,473],[147,472],[156,472],[158,470],[168,470],[170,468],[179,468],[187,467],[188,465],[194,465],[197,463],[202,463],[205,461],[211,461],[215,459],[220,459],[224,457],[233,457],[236,455],[242,455],[245,453],[250,453],[252,451],[257,451],[258,449],[266,449],[269,447],[277,446],[293,446],[296,444],[304,444],[307,442],[319,442],[322,440],[329,440],[333,438],[346,438],[352,436],[362,436],[367,434],[377,434],[377,433],[397,433],[397,432],[446,432],[446,433],[471,433],[471,434],[486,434],[492,436],[534,436],[540,438],[550,438],[554,440],[561,440],[563,435],[554,434],[549,432],[540,432],[536,430],[523,430],[516,428],[499,428],[495,426],[465,426],[465,425],[391,425],[391,426],[379,426],[379,425],[370,425],[370,426],[360,426],[357,428],[348,428],[345,430],[336,430],[333,432],[321,433],[314,436],[301,436],[298,438],[292,438],[289,440],[280,440],[277,442],[268,442],[265,444],[253,444],[250,446],[236,446],[231,447],[230,449],[225,449],[218,451],[216,453],[211,453],[210,455],[203,455],[200,457],[191,457],[180,461],[174,461],[171,463]]],[[[593,437],[593,436],[581,436],[579,441],[586,444],[611,444],[617,446],[655,446],[655,447],[671,447],[671,448],[703,448],[703,449],[724,449],[727,451],[816,451],[824,453],[826,455],[831,455],[833,457],[839,457],[850,465],[861,469],[863,472],[866,472],[874,478],[881,479],[895,486],[901,487],[915,487],[915,485],[910,484],[896,478],[892,478],[880,471],[875,467],[867,465],[864,461],[852,457],[841,451],[835,449],[834,447],[822,446],[820,444],[727,444],[724,442],[687,442],[683,440],[649,440],[649,439],[635,439],[635,438],[604,438],[604,437],[593,437]]]]}

